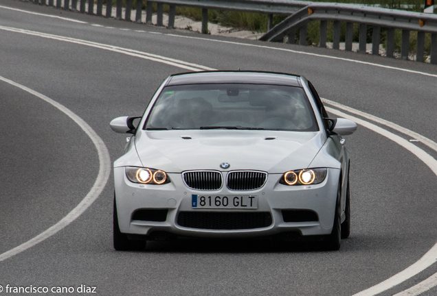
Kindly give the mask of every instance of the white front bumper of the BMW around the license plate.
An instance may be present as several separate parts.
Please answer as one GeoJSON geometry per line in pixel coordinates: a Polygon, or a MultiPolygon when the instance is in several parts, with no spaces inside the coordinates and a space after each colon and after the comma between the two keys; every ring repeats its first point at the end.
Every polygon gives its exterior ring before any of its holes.
{"type": "MultiPolygon", "coordinates": [[[[220,190],[205,192],[188,188],[180,173],[168,173],[171,182],[164,185],[135,184],[127,179],[124,167],[117,167],[114,169],[114,177],[118,223],[122,233],[139,235],[150,235],[153,232],[205,238],[273,236],[282,232],[297,232],[302,236],[326,235],[330,234],[333,228],[339,173],[339,169],[328,169],[324,182],[309,186],[282,185],[279,184],[282,174],[269,174],[266,184],[258,190],[233,191],[223,186],[220,190]],[[258,208],[256,210],[192,208],[192,195],[201,194],[257,195],[258,208]],[[166,217],[157,221],[133,219],[135,218],[133,214],[137,210],[164,210],[161,212],[166,212],[166,217]],[[313,212],[313,217],[316,219],[310,219],[311,221],[287,219],[287,214],[284,212],[289,214],[293,210],[313,212]],[[178,223],[181,212],[210,212],[212,216],[225,212],[264,212],[269,213],[271,223],[250,229],[200,229],[181,226],[178,223]]],[[[224,172],[223,176],[225,175],[224,172]]],[[[208,219],[208,214],[202,216],[208,219]]],[[[226,217],[226,214],[223,217],[226,217]]]]}

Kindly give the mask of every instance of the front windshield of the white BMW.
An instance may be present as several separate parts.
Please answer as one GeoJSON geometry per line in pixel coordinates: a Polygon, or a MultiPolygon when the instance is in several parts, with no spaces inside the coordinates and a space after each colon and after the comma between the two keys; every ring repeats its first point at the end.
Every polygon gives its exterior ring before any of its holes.
{"type": "Polygon", "coordinates": [[[319,130],[302,88],[260,84],[168,86],[144,130],[319,130]]]}

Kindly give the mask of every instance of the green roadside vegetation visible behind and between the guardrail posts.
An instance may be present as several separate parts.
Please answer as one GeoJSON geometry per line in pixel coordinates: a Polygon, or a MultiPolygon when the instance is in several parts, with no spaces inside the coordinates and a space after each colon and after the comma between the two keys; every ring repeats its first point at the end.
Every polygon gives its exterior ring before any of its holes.
{"type": "MultiPolygon", "coordinates": [[[[333,2],[330,0],[315,0],[317,2],[333,2]]],[[[117,0],[113,0],[116,5],[117,0]]],[[[337,3],[355,3],[363,5],[379,5],[381,8],[408,10],[413,12],[423,12],[423,0],[338,0],[337,3]]],[[[126,0],[124,0],[124,5],[126,0]]],[[[133,1],[133,9],[136,9],[137,0],[133,1]]],[[[154,12],[157,10],[157,3],[154,3],[154,12]]],[[[146,1],[142,1],[142,8],[146,9],[146,1]]],[[[164,5],[164,12],[168,12],[169,6],[164,5]]],[[[192,18],[194,21],[201,21],[202,11],[200,8],[177,7],[176,14],[192,18]]],[[[208,19],[211,23],[218,23],[225,27],[235,27],[246,29],[252,32],[267,32],[267,14],[258,14],[253,12],[239,12],[233,10],[208,10],[208,19]]],[[[274,15],[273,25],[284,20],[287,16],[274,15]]],[[[317,46],[319,43],[320,21],[313,21],[308,24],[306,44],[317,46]]],[[[341,23],[340,42],[344,42],[346,36],[346,23],[341,23]]],[[[296,32],[296,38],[299,38],[299,32],[296,32]]],[[[385,47],[387,31],[381,28],[381,44],[385,47]]],[[[359,41],[359,24],[354,24],[353,42],[359,41]]],[[[402,32],[396,29],[394,33],[394,49],[401,51],[402,32]]],[[[328,22],[327,42],[333,42],[333,23],[328,22]]],[[[372,42],[372,26],[368,26],[367,42],[372,42]]],[[[415,54],[417,44],[417,32],[410,32],[410,53],[415,54]]],[[[431,49],[431,34],[425,34],[425,55],[429,55],[431,49]]]]}

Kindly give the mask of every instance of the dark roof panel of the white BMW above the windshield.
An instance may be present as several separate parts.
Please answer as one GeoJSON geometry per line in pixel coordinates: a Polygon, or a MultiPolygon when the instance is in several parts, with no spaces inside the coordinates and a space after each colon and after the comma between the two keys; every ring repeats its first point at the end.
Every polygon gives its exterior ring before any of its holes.
{"type": "Polygon", "coordinates": [[[300,86],[300,76],[258,71],[203,71],[171,75],[167,86],[184,84],[271,84],[300,86]]]}

